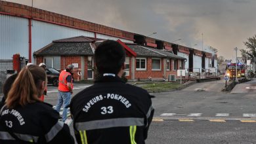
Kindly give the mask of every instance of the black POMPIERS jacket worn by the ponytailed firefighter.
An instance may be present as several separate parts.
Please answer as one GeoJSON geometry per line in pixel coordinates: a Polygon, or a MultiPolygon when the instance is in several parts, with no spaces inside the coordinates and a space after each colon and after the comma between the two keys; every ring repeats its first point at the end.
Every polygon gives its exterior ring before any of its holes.
{"type": "Polygon", "coordinates": [[[67,124],[47,103],[35,102],[0,114],[0,143],[74,143],[67,124]]]}

